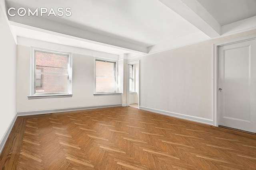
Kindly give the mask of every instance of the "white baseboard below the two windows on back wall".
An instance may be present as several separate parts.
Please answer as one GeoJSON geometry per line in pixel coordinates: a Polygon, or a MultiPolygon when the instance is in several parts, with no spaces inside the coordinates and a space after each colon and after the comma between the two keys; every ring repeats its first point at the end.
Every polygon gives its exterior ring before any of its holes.
{"type": "Polygon", "coordinates": [[[68,107],[61,109],[45,109],[45,110],[32,110],[32,111],[18,111],[18,116],[28,116],[28,115],[40,115],[47,113],[60,113],[66,111],[78,111],[78,110],[88,110],[88,109],[99,109],[105,107],[119,107],[121,104],[113,104],[113,105],[100,105],[100,106],[85,106],[85,107],[68,107]]]}

